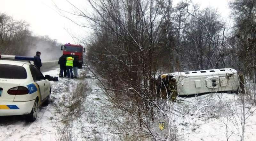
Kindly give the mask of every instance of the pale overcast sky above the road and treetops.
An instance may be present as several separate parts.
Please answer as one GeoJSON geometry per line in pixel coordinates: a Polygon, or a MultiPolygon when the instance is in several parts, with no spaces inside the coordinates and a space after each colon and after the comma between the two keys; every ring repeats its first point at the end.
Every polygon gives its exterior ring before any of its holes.
{"type": "MultiPolygon", "coordinates": [[[[14,19],[26,20],[34,35],[48,35],[60,43],[74,43],[66,30],[76,35],[88,36],[89,30],[81,28],[68,19],[61,17],[53,2],[60,8],[70,10],[65,0],[0,0],[0,13],[13,16],[14,19]]],[[[86,7],[85,0],[72,0],[79,7],[86,7]]],[[[218,8],[224,18],[228,18],[228,0],[192,0],[204,7],[218,8]]],[[[174,3],[178,2],[175,0],[174,3]]],[[[77,43],[78,44],[78,43],[77,43]]]]}

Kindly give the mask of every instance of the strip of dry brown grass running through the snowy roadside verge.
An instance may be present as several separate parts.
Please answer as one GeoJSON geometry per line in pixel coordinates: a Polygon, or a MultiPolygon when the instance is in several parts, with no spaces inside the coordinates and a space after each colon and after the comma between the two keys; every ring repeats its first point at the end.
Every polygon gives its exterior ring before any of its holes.
{"type": "Polygon", "coordinates": [[[67,95],[60,102],[63,106],[61,109],[59,108],[59,113],[63,118],[52,122],[57,129],[57,140],[79,140],[79,133],[74,132],[73,124],[83,114],[83,104],[90,88],[87,82],[82,80],[77,81],[73,86],[76,86],[76,88],[71,91],[71,95],[67,95]]]}

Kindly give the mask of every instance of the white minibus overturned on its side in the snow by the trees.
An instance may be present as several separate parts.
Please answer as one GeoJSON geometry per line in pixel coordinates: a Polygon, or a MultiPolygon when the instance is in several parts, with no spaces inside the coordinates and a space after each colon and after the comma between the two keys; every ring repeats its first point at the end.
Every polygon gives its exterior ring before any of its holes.
{"type": "MultiPolygon", "coordinates": [[[[162,82],[159,83],[161,87],[164,85],[164,83],[166,83],[166,78],[172,77],[175,77],[176,79],[176,90],[178,95],[193,95],[212,92],[236,92],[239,87],[237,71],[232,68],[162,74],[158,77],[158,80],[161,79],[162,82]]],[[[158,86],[158,88],[160,88],[160,86],[158,86]]]]}

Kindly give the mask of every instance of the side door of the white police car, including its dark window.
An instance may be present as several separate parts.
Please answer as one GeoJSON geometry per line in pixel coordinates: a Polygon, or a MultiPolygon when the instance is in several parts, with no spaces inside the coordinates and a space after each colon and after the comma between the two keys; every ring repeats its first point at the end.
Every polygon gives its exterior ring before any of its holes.
{"type": "Polygon", "coordinates": [[[40,72],[40,70],[36,66],[30,65],[29,68],[30,68],[30,71],[31,71],[34,81],[36,82],[36,84],[39,87],[39,91],[40,91],[40,95],[41,95],[40,99],[42,101],[46,98],[46,95],[47,95],[45,93],[45,86],[47,85],[47,81],[44,79],[44,75],[40,72]]]}

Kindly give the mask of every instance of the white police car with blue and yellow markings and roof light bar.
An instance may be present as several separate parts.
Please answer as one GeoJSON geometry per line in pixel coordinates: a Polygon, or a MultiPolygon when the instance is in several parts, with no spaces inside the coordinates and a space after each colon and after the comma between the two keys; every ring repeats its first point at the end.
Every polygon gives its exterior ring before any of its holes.
{"type": "Polygon", "coordinates": [[[38,106],[49,102],[50,81],[28,61],[33,57],[0,55],[0,116],[27,115],[33,122],[38,106]]]}

